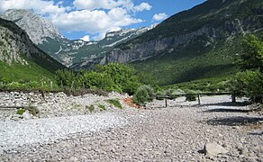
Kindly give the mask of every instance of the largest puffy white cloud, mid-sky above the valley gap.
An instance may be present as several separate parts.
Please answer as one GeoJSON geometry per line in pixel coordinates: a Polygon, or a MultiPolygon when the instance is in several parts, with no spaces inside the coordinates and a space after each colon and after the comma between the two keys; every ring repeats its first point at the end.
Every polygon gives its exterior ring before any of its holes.
{"type": "Polygon", "coordinates": [[[100,10],[81,10],[54,15],[52,23],[64,31],[86,31],[89,33],[105,33],[132,23],[141,23],[141,19],[132,18],[126,10],[113,8],[108,13],[100,10]]]}

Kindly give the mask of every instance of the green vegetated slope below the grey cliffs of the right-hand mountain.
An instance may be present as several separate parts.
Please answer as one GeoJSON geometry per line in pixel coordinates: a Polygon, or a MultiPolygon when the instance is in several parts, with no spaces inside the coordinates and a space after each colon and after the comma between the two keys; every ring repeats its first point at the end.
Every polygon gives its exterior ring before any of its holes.
{"type": "Polygon", "coordinates": [[[137,61],[132,65],[137,70],[155,77],[159,85],[173,85],[201,79],[225,79],[239,69],[233,65],[235,54],[240,51],[240,37],[221,41],[204,48],[204,38],[191,43],[184,49],[137,61]],[[216,47],[216,48],[214,48],[216,47]]]}

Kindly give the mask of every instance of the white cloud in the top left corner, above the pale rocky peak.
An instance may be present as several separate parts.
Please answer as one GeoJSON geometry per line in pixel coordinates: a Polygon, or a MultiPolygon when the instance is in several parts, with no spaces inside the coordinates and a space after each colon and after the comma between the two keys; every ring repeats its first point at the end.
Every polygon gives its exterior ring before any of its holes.
{"type": "Polygon", "coordinates": [[[36,14],[61,14],[66,11],[53,1],[44,0],[0,0],[0,12],[8,9],[31,9],[36,14]]]}

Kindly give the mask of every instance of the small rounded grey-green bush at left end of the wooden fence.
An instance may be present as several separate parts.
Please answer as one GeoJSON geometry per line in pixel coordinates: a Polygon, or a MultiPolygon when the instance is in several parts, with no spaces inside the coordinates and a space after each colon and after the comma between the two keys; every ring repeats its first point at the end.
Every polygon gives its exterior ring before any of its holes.
{"type": "Polygon", "coordinates": [[[152,100],[150,94],[153,94],[152,87],[150,85],[141,85],[133,95],[132,101],[139,105],[145,105],[146,102],[152,100]]]}

